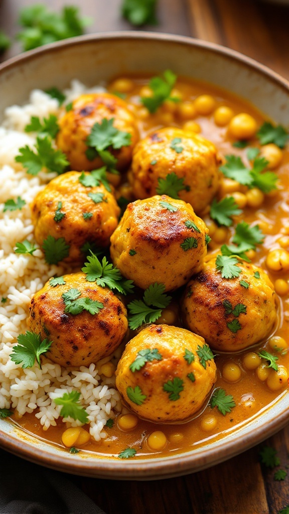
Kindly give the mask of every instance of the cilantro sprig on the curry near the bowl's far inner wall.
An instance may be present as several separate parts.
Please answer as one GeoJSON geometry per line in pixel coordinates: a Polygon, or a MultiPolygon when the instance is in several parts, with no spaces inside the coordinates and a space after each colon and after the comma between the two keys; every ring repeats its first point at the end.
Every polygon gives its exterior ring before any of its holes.
{"type": "Polygon", "coordinates": [[[149,82],[149,87],[153,95],[151,97],[142,97],[141,102],[150,113],[155,113],[158,107],[165,102],[165,100],[178,101],[177,98],[171,97],[172,88],[175,85],[176,75],[167,69],[164,71],[164,78],[153,77],[149,82]]]}

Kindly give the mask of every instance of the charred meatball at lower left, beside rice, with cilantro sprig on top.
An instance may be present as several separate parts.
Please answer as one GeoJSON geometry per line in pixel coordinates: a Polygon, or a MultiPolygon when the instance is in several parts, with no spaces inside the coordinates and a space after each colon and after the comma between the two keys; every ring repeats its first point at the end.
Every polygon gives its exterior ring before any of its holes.
{"type": "Polygon", "coordinates": [[[81,272],[64,275],[59,282],[53,286],[48,281],[29,306],[30,330],[53,341],[47,357],[62,366],[88,366],[111,355],[128,329],[123,303],[107,287],[87,282],[81,272]],[[79,299],[86,299],[84,305],[93,310],[81,310],[79,299]],[[96,307],[99,311],[93,314],[96,307]]]}

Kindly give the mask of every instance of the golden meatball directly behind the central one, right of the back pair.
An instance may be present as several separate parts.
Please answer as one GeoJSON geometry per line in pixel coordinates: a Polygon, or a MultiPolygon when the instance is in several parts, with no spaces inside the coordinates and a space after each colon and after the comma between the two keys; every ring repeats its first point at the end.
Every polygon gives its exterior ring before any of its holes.
{"type": "Polygon", "coordinates": [[[183,179],[177,191],[200,214],[219,187],[219,160],[213,143],[180,128],[162,128],[139,141],[133,152],[130,173],[136,198],[148,198],[159,190],[161,181],[173,173],[183,179]]]}

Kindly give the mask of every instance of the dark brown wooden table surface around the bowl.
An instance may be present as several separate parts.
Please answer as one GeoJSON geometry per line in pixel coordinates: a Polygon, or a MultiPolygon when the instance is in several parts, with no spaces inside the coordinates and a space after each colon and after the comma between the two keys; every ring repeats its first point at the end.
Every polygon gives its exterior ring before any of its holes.
{"type": "MultiPolygon", "coordinates": [[[[0,0],[0,28],[14,35],[18,10],[35,2],[0,0]]],[[[43,0],[51,9],[81,7],[93,17],[87,32],[127,30],[120,0],[43,0]]],[[[289,79],[289,7],[254,0],[159,0],[159,25],[149,30],[191,35],[239,50],[289,79]]],[[[20,51],[14,43],[2,56],[20,51]]],[[[71,477],[107,514],[277,514],[289,505],[289,474],[274,480],[274,470],[259,463],[259,450],[273,446],[284,468],[289,464],[289,428],[258,447],[202,472],[153,482],[117,482],[71,477]]]]}

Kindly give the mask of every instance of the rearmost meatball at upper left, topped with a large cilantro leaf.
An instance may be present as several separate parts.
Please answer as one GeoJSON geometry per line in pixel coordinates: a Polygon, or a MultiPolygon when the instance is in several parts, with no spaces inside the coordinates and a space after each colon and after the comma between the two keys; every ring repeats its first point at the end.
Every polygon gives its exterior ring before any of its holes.
{"type": "Polygon", "coordinates": [[[56,143],[72,169],[94,170],[107,164],[123,170],[129,166],[138,130],[121,98],[109,93],[81,95],[60,118],[59,126],[56,143]]]}

